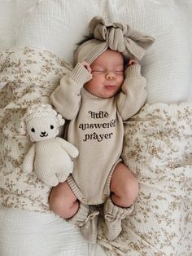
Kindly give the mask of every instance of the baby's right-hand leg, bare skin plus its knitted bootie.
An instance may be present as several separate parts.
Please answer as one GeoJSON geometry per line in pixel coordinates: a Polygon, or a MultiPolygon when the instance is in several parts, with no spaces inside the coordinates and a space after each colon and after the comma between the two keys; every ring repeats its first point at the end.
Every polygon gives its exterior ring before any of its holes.
{"type": "Polygon", "coordinates": [[[117,164],[111,177],[112,195],[104,204],[106,223],[105,235],[113,241],[121,232],[121,221],[133,211],[133,202],[137,198],[137,179],[124,164],[117,164]]]}

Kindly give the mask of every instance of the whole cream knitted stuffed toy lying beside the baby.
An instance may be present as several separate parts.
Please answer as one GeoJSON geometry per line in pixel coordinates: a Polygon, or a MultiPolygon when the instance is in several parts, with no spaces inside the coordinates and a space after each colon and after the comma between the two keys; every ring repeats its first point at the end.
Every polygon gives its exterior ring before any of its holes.
{"type": "Polygon", "coordinates": [[[71,157],[79,154],[72,143],[56,137],[64,119],[49,104],[36,104],[27,109],[22,124],[33,142],[24,157],[24,172],[34,170],[49,186],[64,182],[73,170],[71,157]]]}

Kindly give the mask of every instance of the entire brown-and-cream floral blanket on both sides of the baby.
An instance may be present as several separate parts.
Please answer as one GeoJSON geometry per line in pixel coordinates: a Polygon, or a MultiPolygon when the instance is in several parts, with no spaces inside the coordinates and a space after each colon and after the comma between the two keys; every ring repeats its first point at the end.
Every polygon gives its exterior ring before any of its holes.
{"type": "MultiPolygon", "coordinates": [[[[50,212],[50,188],[21,168],[31,143],[20,132],[26,108],[49,103],[72,67],[49,51],[29,47],[0,53],[0,203],[50,212]]],[[[124,163],[140,192],[133,214],[112,242],[100,226],[109,255],[192,255],[192,104],[153,104],[124,123],[124,163]]]]}

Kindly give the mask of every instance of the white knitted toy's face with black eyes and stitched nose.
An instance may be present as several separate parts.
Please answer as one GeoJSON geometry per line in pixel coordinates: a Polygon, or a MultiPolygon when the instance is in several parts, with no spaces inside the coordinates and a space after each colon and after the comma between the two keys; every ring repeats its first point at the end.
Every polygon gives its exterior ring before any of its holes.
{"type": "Polygon", "coordinates": [[[58,123],[54,117],[34,117],[26,126],[32,141],[53,139],[59,133],[58,123]]]}

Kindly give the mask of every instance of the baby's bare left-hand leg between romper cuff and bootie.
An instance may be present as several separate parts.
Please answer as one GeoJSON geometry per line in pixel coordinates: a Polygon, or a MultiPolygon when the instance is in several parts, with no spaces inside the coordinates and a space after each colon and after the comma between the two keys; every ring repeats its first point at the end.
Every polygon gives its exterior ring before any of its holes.
{"type": "Polygon", "coordinates": [[[59,183],[50,192],[50,209],[63,218],[72,218],[79,209],[77,200],[67,182],[59,183]]]}

